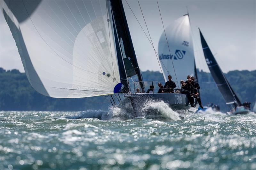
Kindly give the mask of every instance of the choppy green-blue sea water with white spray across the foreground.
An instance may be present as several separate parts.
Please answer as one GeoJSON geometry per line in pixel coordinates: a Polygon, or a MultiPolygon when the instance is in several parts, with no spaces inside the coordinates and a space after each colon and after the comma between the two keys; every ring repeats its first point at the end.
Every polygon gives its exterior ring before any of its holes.
{"type": "Polygon", "coordinates": [[[129,119],[118,108],[1,111],[0,169],[256,169],[256,114],[180,120],[163,107],[147,106],[166,120],[129,119]]]}

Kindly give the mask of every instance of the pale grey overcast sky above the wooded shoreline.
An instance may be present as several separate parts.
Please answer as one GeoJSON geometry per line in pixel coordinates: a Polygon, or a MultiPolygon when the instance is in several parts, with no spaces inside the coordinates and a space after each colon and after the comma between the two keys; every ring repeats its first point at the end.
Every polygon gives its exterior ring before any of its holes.
{"type": "MultiPolygon", "coordinates": [[[[127,1],[143,29],[146,26],[137,0],[127,1]]],[[[189,11],[197,68],[209,71],[202,52],[198,27],[215,55],[223,72],[256,69],[256,1],[192,1],[159,0],[164,26],[189,11]]],[[[123,1],[133,46],[142,71],[160,70],[148,39],[123,1]]],[[[157,49],[163,26],[155,0],[141,0],[140,5],[157,49]]],[[[24,72],[18,49],[4,16],[0,14],[0,67],[24,72]]]]}

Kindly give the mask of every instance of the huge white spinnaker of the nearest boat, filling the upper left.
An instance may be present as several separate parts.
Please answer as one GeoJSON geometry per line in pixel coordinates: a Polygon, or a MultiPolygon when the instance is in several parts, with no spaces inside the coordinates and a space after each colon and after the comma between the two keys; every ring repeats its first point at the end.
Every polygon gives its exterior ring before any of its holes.
{"type": "Polygon", "coordinates": [[[4,0],[1,7],[36,91],[55,98],[113,93],[120,76],[108,1],[4,0]]]}

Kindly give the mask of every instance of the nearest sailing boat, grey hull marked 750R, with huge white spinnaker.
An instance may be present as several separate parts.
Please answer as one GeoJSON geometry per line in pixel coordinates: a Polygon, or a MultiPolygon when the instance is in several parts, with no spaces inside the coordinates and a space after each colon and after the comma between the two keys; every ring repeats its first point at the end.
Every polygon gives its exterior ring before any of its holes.
{"type": "MultiPolygon", "coordinates": [[[[148,100],[163,100],[173,109],[187,108],[185,94],[144,93],[121,0],[4,0],[1,7],[37,92],[54,98],[125,93],[118,107],[133,117],[148,100]],[[134,75],[139,94],[131,94],[128,78],[134,75]]],[[[185,55],[177,54],[179,59],[185,55]]]]}

